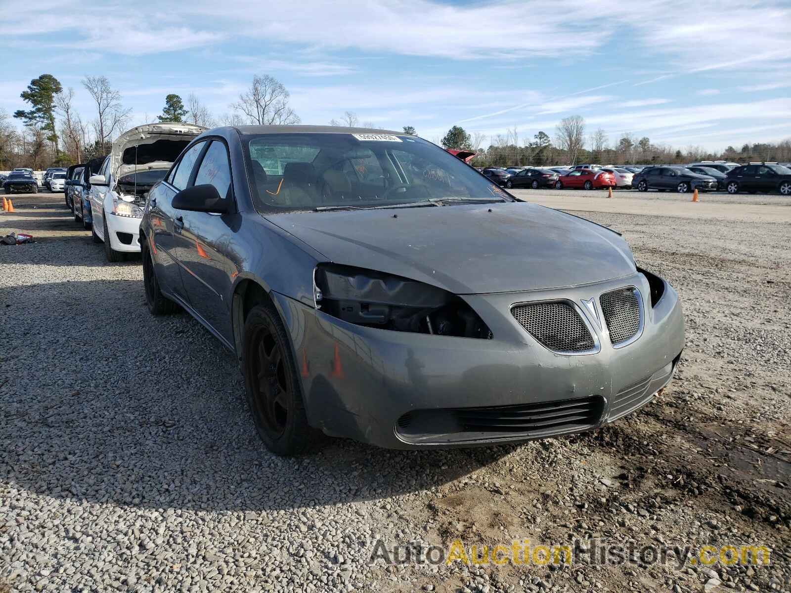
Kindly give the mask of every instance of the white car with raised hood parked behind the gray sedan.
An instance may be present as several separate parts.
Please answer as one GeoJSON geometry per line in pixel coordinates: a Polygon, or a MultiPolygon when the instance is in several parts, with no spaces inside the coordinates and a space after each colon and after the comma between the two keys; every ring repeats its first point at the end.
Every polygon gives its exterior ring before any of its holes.
{"type": "Polygon", "coordinates": [[[127,130],[112,143],[99,172],[89,179],[93,241],[104,243],[108,262],[140,252],[140,219],[149,189],[206,129],[193,123],[148,123],[127,130]]]}

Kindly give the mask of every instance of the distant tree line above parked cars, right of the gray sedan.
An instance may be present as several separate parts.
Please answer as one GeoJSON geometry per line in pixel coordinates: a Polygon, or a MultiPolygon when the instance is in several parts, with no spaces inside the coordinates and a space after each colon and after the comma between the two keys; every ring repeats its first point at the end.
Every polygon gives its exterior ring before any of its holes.
{"type": "Polygon", "coordinates": [[[468,134],[453,126],[439,141],[445,148],[469,149],[477,153],[476,167],[544,166],[551,164],[685,164],[692,161],[791,161],[791,138],[778,143],[755,142],[740,149],[729,145],[716,152],[701,146],[674,148],[657,145],[647,136],[621,134],[615,144],[602,128],[588,132],[581,115],[563,118],[554,130],[554,138],[539,131],[532,138],[520,138],[516,127],[488,138],[475,132],[468,134]],[[486,142],[488,141],[488,145],[486,142]]]}

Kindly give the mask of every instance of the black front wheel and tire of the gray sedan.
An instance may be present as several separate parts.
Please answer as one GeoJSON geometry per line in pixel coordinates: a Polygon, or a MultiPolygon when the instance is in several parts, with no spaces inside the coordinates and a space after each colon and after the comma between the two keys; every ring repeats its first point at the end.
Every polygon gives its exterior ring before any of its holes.
{"type": "Polygon", "coordinates": [[[275,455],[300,455],[316,441],[308,425],[301,381],[286,327],[272,304],[252,308],[244,321],[244,391],[255,429],[275,455]]]}

